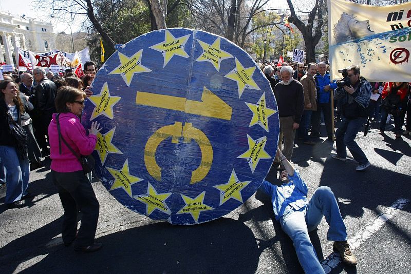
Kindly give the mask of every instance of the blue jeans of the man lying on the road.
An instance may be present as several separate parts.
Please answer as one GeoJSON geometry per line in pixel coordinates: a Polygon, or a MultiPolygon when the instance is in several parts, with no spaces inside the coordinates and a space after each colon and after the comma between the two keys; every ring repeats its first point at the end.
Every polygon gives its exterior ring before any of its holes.
{"type": "Polygon", "coordinates": [[[346,241],[347,230],[340,208],[334,193],[327,186],[314,191],[304,210],[291,211],[280,219],[281,227],[293,241],[298,261],[306,273],[324,273],[308,235],[320,224],[323,216],[329,225],[327,239],[346,241]]]}

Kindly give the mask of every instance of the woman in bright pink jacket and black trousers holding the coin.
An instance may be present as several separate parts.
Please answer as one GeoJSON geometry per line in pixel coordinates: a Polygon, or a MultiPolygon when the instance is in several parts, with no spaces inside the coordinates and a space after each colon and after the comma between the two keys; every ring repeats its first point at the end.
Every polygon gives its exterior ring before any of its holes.
{"type": "Polygon", "coordinates": [[[69,246],[74,242],[74,250],[93,252],[102,246],[94,241],[99,218],[99,202],[77,155],[74,155],[63,141],[64,139],[78,155],[89,155],[94,151],[96,134],[101,128],[97,122],[93,122],[88,130],[89,134],[86,135],[79,119],[85,97],[84,91],[78,88],[66,86],[59,89],[54,102],[58,113],[53,114],[48,133],[51,174],[64,208],[63,243],[69,246]],[[79,211],[83,217],[77,232],[79,211]]]}

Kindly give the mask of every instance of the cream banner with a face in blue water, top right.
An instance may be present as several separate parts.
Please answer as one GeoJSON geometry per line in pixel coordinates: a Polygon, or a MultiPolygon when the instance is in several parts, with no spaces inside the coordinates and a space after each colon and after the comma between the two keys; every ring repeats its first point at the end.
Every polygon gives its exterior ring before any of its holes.
{"type": "Polygon", "coordinates": [[[328,0],[331,77],[339,69],[360,66],[361,76],[376,82],[409,82],[411,2],[369,6],[328,0]]]}

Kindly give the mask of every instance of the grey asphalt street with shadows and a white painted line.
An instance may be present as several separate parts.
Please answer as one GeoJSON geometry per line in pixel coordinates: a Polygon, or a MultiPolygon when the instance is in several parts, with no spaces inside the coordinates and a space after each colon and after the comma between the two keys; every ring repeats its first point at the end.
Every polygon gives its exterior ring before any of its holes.
{"type": "MultiPolygon", "coordinates": [[[[376,125],[358,143],[371,162],[365,172],[349,154],[331,158],[335,144],[308,146],[297,141],[292,161],[309,185],[331,187],[355,245],[356,267],[341,263],[327,241],[327,224],[311,233],[317,254],[329,273],[411,272],[411,137],[377,133],[376,125]]],[[[322,129],[323,130],[323,129],[322,129]]],[[[323,130],[325,131],[325,130],[323,130]]],[[[218,220],[193,226],[152,221],[118,203],[100,182],[95,253],[79,254],[62,244],[63,213],[48,167],[31,172],[35,197],[21,209],[4,205],[0,189],[0,273],[301,273],[291,240],[281,230],[270,201],[256,192],[242,206],[218,220]]],[[[278,173],[267,180],[277,183],[278,173]]]]}

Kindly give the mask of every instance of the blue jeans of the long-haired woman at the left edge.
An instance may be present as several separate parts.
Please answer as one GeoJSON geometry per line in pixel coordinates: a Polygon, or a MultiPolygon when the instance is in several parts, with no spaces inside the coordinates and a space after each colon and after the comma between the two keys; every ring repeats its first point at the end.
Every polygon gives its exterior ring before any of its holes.
{"type": "Polygon", "coordinates": [[[10,146],[0,146],[0,158],[6,168],[6,204],[20,201],[28,193],[30,166],[28,160],[17,156],[16,149],[10,146]]]}

